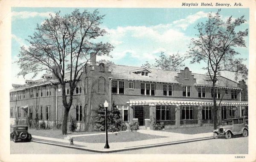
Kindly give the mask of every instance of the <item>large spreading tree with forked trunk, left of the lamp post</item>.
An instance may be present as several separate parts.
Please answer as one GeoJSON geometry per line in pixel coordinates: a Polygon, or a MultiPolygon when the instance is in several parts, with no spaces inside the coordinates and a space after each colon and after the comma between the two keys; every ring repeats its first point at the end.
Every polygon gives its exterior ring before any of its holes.
{"type": "Polygon", "coordinates": [[[109,56],[113,49],[109,43],[95,43],[97,37],[107,33],[100,28],[104,16],[97,10],[91,13],[87,10],[80,12],[78,9],[64,16],[60,15],[60,11],[55,15],[50,14],[50,18],[44,20],[42,25],[37,25],[34,34],[29,36],[29,47],[20,50],[17,64],[21,71],[18,75],[32,73],[35,77],[39,71],[49,70],[57,77],[64,105],[62,134],[67,134],[67,117],[76,81],[90,60],[90,53],[109,56]],[[70,83],[68,98],[65,92],[66,79],[70,83]]]}

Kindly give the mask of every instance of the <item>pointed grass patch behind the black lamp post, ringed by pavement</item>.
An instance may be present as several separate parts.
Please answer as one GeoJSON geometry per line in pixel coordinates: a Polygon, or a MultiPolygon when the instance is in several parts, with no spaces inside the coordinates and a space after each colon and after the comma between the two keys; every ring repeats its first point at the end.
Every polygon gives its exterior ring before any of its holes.
{"type": "MultiPolygon", "coordinates": [[[[149,134],[140,134],[138,132],[122,132],[117,134],[108,134],[108,142],[132,142],[140,141],[145,139],[158,139],[164,138],[165,136],[155,136],[149,134]]],[[[74,137],[74,141],[88,142],[88,143],[105,143],[105,135],[95,135],[95,136],[80,136],[74,137]]]]}

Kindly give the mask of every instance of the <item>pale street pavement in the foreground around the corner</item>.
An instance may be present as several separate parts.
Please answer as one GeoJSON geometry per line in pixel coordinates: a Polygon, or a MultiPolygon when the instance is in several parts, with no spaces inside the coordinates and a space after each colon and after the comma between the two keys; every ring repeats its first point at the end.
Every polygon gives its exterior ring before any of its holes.
{"type": "MultiPolygon", "coordinates": [[[[104,147],[104,146],[102,146],[104,147]]],[[[110,144],[111,147],[111,144],[110,144]]],[[[247,154],[248,137],[232,139],[209,139],[177,145],[145,148],[132,151],[116,152],[117,154],[247,154]]],[[[99,154],[89,151],[64,148],[36,142],[11,141],[11,154],[99,154]],[[26,148],[26,149],[20,149],[26,148]]]]}

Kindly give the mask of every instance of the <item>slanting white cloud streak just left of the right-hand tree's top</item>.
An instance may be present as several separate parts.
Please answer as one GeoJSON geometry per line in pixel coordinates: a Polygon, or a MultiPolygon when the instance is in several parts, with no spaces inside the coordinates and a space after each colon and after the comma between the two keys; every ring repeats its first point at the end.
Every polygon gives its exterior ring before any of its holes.
{"type": "Polygon", "coordinates": [[[195,23],[198,19],[207,17],[208,13],[205,13],[203,11],[199,11],[195,14],[189,15],[188,17],[186,17],[185,19],[180,19],[177,21],[172,22],[174,24],[174,26],[176,27],[180,27],[183,30],[186,30],[186,28],[192,24],[195,23]]]}

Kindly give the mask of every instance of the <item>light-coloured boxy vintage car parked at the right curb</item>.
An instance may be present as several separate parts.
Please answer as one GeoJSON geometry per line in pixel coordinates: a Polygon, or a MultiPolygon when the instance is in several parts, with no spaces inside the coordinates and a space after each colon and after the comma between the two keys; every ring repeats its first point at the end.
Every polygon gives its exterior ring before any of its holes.
{"type": "Polygon", "coordinates": [[[224,119],[222,125],[218,129],[212,131],[213,137],[217,139],[219,136],[225,136],[230,139],[233,135],[242,134],[248,136],[248,125],[245,118],[224,119]]]}

